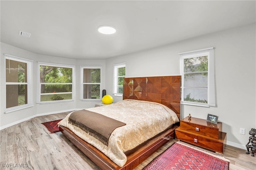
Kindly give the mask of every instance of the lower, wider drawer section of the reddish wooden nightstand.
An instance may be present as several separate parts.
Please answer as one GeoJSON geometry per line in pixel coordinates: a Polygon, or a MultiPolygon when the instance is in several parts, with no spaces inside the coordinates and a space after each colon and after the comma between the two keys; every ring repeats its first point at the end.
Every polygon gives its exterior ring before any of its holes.
{"type": "Polygon", "coordinates": [[[213,150],[223,154],[224,145],[226,144],[226,133],[220,132],[220,139],[204,137],[200,134],[185,132],[180,128],[175,129],[175,138],[185,142],[201,146],[203,148],[213,150]]]}

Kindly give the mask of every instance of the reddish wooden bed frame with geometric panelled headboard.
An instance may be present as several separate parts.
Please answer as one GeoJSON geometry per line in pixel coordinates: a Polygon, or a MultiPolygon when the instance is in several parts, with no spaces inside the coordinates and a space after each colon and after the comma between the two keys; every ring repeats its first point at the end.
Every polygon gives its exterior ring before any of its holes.
{"type": "MultiPolygon", "coordinates": [[[[172,109],[180,119],[180,76],[124,78],[123,99],[135,99],[161,103],[172,109]]],[[[123,167],[116,165],[106,155],[85,142],[66,127],[60,126],[62,133],[77,146],[92,162],[103,170],[132,170],[146,160],[156,150],[174,138],[174,130],[179,123],[147,140],[126,154],[123,167]]]]}

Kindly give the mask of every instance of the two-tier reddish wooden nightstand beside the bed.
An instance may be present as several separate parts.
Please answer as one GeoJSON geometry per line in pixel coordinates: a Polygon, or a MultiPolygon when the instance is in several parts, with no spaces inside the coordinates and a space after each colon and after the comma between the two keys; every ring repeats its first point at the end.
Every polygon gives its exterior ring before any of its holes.
{"type": "Polygon", "coordinates": [[[222,132],[222,123],[213,124],[194,117],[186,117],[180,121],[180,127],[175,129],[175,138],[221,154],[226,146],[226,133],[222,132]]]}

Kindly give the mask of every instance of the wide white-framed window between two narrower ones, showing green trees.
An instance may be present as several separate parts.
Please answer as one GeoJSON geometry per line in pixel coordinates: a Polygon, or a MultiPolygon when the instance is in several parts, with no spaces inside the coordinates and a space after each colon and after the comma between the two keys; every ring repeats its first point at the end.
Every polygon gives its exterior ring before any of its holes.
{"type": "Polygon", "coordinates": [[[74,66],[38,63],[40,103],[56,103],[74,99],[74,66]]]}

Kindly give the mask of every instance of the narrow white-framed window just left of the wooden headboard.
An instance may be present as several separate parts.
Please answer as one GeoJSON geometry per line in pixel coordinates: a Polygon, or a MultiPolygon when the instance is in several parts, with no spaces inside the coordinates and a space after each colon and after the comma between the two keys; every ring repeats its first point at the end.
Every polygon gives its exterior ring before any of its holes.
{"type": "Polygon", "coordinates": [[[125,63],[114,65],[114,89],[115,96],[123,96],[123,83],[125,78],[125,63]]]}

